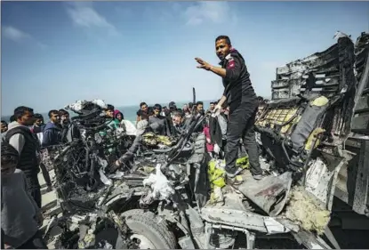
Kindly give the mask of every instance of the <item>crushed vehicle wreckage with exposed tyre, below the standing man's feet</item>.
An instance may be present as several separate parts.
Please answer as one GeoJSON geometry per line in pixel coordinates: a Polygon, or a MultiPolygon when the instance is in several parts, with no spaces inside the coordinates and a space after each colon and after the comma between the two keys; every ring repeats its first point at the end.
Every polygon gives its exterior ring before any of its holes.
{"type": "MultiPolygon", "coordinates": [[[[255,238],[285,234],[309,248],[327,248],[321,238],[282,214],[291,172],[259,182],[244,174],[237,190],[214,187],[219,182],[209,178],[205,135],[197,132],[204,119],[201,113],[194,116],[172,147],[139,150],[128,171],[105,174],[106,164],[97,158],[95,171],[83,169],[92,183],[76,175],[80,166],[65,164],[71,157],[63,149],[54,166],[63,214],[54,217],[46,235],[62,230],[57,248],[253,249],[255,238]],[[216,202],[209,198],[215,191],[221,191],[216,202]]],[[[94,141],[92,134],[86,138],[94,141]]],[[[96,158],[92,149],[72,162],[86,165],[96,158]]],[[[247,157],[243,160],[247,168],[247,157]]],[[[219,173],[221,165],[215,165],[219,173]]]]}

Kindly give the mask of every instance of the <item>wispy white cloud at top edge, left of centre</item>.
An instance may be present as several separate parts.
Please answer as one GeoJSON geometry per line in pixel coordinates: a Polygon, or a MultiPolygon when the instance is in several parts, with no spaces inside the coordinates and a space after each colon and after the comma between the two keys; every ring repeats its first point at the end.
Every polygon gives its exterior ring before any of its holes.
{"type": "Polygon", "coordinates": [[[90,4],[75,2],[69,4],[67,11],[69,17],[77,26],[82,28],[108,28],[111,35],[118,35],[116,27],[96,12],[90,4]]]}

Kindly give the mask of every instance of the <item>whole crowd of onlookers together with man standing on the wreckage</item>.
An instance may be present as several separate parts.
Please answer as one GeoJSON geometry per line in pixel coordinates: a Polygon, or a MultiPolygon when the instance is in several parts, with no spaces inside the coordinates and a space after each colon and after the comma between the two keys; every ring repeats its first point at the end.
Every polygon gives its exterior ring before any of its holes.
{"type": "MultiPolygon", "coordinates": [[[[224,93],[220,100],[210,103],[210,109],[205,111],[202,101],[189,102],[181,108],[174,101],[167,107],[160,104],[148,107],[146,102],[141,102],[136,125],[133,125],[124,119],[123,112],[107,105],[104,109],[107,126],[113,130],[124,127],[136,136],[131,148],[115,161],[116,166],[134,156],[143,133],[179,136],[188,127],[191,117],[201,112],[207,118],[200,133],[205,133],[206,149],[211,157],[225,159],[226,180],[232,185],[238,184],[235,177],[242,169],[237,168],[236,160],[242,145],[247,150],[253,178],[263,178],[253,124],[266,103],[254,93],[245,60],[232,47],[228,36],[215,39],[215,50],[221,67],[195,59],[199,64],[197,68],[211,71],[223,81],[224,93]]],[[[48,118],[45,124],[41,114],[21,106],[14,109],[9,124],[1,121],[2,244],[8,247],[46,248],[39,232],[43,222],[41,187],[37,178],[40,169],[47,191],[52,190],[52,180],[40,158],[44,149],[83,136],[83,132],[71,123],[67,110],[52,109],[48,118]]]]}

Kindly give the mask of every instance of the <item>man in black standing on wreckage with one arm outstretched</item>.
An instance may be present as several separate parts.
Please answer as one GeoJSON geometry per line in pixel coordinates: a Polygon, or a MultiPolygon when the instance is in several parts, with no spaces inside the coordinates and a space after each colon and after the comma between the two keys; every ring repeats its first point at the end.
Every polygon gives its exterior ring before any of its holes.
{"type": "Polygon", "coordinates": [[[221,67],[214,67],[205,60],[195,58],[198,69],[212,71],[222,77],[224,93],[215,109],[221,109],[225,101],[229,105],[229,125],[227,130],[226,172],[229,181],[238,184],[236,175],[242,170],[236,168],[239,139],[242,138],[249,155],[251,173],[255,180],[262,179],[259,152],[253,131],[258,100],[253,91],[250,74],[242,55],[232,47],[229,36],[215,39],[215,51],[221,60],[221,67]]]}

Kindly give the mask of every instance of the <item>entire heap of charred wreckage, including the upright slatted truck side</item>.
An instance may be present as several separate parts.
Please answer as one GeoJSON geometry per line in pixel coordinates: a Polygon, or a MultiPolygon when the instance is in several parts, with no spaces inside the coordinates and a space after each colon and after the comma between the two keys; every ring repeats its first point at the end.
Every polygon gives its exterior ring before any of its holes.
{"type": "MultiPolygon", "coordinates": [[[[325,52],[277,69],[272,101],[255,123],[268,176],[254,181],[247,156],[240,156],[245,172],[237,189],[225,183],[224,163],[206,153],[204,114],[194,115],[178,138],[144,133],[132,152],[134,136],[108,128],[103,101],[69,106],[83,136],[50,154],[62,214],[52,218],[46,238],[59,228],[57,248],[253,249],[269,237],[339,248],[327,224],[349,162],[345,143],[359,138],[368,149],[368,128],[354,129],[357,106],[368,98],[368,51],[368,34],[355,45],[340,36],[325,52]],[[113,163],[127,152],[132,157],[117,168],[113,163]]],[[[367,180],[367,165],[360,171],[367,180]]],[[[361,206],[368,215],[367,199],[361,206]]]]}

